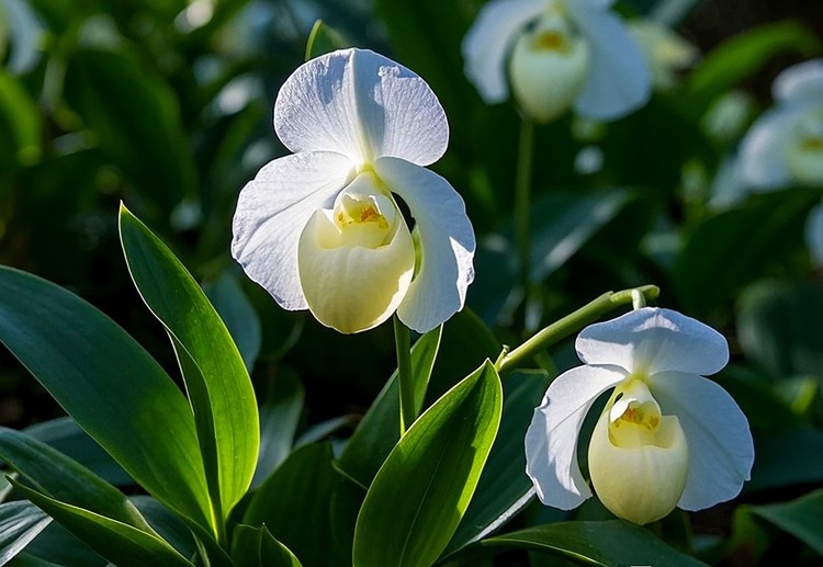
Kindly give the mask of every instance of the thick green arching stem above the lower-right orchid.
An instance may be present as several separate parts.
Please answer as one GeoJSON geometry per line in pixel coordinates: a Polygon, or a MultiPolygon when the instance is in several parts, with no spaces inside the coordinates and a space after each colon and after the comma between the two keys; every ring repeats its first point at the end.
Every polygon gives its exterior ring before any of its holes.
{"type": "Polygon", "coordinates": [[[659,287],[656,285],[642,285],[621,292],[607,292],[594,302],[554,321],[514,351],[507,352],[504,350],[500,356],[498,356],[497,362],[495,362],[495,368],[501,374],[510,372],[530,360],[538,352],[570,334],[578,332],[585,326],[595,322],[616,307],[629,304],[638,306],[641,303],[645,305],[647,299],[655,299],[658,294],[659,287]]]}

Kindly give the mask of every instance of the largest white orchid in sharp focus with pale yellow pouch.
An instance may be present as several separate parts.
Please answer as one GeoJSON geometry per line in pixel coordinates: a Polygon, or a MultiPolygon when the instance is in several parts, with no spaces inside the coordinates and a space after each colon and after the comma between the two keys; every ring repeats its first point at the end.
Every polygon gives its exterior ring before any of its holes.
{"type": "Polygon", "coordinates": [[[369,50],[324,55],[281,88],[274,129],[294,154],[243,189],[234,218],[232,254],[249,277],[347,333],[395,311],[425,332],[463,307],[474,233],[460,195],[424,167],[449,126],[420,77],[369,50]]]}

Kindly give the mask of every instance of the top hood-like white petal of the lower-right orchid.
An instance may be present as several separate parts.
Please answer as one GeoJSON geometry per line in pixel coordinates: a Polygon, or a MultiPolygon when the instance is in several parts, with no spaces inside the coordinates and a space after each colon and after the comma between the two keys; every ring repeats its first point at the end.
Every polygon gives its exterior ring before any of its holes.
{"type": "Polygon", "coordinates": [[[707,375],[729,362],[729,344],[718,331],[672,309],[653,307],[586,327],[575,347],[587,364],[645,375],[672,370],[707,375]]]}

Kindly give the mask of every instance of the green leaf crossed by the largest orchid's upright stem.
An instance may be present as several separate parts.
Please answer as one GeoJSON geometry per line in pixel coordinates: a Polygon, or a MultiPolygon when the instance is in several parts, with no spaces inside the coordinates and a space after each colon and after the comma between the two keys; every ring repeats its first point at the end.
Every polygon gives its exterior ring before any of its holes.
{"type": "MultiPolygon", "coordinates": [[[[417,386],[415,404],[426,395],[441,334],[442,328],[438,327],[420,337],[412,347],[412,374],[417,386]]],[[[399,412],[395,370],[337,461],[339,468],[362,486],[371,484],[386,455],[399,439],[399,412]]]]}

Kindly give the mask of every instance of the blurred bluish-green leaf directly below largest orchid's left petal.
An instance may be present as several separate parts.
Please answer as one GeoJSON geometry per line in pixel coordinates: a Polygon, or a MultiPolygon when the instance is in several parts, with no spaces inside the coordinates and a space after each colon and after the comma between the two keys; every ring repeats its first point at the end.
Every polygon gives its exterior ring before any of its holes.
{"type": "Polygon", "coordinates": [[[246,368],[251,372],[260,353],[262,336],[260,319],[240,284],[234,275],[224,272],[214,282],[204,284],[203,291],[232,333],[246,368]]]}

